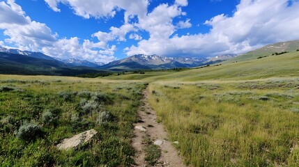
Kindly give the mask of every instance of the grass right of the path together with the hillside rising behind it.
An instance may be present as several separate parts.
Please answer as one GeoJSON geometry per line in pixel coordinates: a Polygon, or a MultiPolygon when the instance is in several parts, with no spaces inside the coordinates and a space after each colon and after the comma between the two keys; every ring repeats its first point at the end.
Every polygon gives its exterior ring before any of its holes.
{"type": "MultiPolygon", "coordinates": [[[[299,53],[147,77],[191,166],[299,166],[299,53]]],[[[117,79],[117,77],[114,77],[117,79]]]]}

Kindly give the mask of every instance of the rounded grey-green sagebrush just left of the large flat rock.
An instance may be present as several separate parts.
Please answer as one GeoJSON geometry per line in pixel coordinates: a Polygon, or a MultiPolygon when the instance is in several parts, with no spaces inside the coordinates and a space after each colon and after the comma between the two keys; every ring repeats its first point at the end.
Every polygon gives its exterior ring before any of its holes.
{"type": "Polygon", "coordinates": [[[42,136],[43,132],[38,125],[33,123],[24,123],[17,131],[17,137],[24,141],[33,141],[42,136]]]}

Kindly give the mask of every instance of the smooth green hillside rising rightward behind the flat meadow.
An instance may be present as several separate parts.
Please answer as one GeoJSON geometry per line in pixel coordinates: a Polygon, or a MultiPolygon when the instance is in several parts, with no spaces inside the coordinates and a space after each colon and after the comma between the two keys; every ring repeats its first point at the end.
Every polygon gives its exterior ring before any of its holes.
{"type": "Polygon", "coordinates": [[[265,79],[270,77],[298,77],[299,51],[268,56],[238,63],[211,65],[181,72],[145,72],[146,74],[124,74],[120,76],[105,77],[107,79],[124,79],[141,81],[225,81],[265,79]]]}

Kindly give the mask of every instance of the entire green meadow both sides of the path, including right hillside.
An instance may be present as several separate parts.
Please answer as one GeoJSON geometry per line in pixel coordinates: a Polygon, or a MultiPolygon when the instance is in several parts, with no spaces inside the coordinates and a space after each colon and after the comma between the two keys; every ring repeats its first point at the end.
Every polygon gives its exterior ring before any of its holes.
{"type": "Polygon", "coordinates": [[[134,164],[132,124],[147,84],[185,164],[299,166],[299,52],[97,79],[0,75],[0,164],[134,164]],[[91,143],[56,149],[88,129],[98,131],[91,143]]]}

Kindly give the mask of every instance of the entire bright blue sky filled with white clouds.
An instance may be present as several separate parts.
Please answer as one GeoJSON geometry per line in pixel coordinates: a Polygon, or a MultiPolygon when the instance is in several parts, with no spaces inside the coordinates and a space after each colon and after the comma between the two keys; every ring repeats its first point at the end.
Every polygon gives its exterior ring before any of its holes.
{"type": "Polygon", "coordinates": [[[299,39],[299,0],[0,0],[0,46],[109,63],[299,39]]]}

